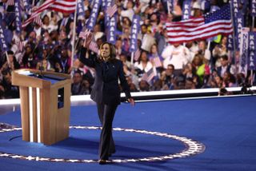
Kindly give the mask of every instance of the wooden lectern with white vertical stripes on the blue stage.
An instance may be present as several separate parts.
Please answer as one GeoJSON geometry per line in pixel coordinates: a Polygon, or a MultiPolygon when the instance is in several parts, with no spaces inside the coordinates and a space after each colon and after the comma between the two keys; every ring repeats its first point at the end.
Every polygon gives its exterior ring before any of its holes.
{"type": "Polygon", "coordinates": [[[70,75],[14,70],[12,84],[20,90],[23,141],[52,145],[69,137],[70,75]]]}

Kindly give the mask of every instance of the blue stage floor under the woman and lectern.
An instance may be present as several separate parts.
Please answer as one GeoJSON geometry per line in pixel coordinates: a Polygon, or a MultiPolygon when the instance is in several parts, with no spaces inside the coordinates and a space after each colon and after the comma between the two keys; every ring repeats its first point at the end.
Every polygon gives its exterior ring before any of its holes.
{"type": "MultiPolygon", "coordinates": [[[[256,170],[255,104],[256,96],[122,104],[110,165],[95,162],[96,106],[72,106],[70,137],[55,145],[0,131],[0,170],[256,170]]],[[[5,111],[0,122],[20,127],[19,109],[5,111]]]]}

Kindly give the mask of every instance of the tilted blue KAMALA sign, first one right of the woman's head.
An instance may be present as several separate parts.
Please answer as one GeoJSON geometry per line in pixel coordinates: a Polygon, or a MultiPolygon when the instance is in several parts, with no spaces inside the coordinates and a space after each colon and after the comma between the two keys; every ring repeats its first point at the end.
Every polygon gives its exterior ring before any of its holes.
{"type": "Polygon", "coordinates": [[[134,18],[131,25],[131,35],[130,35],[130,52],[135,52],[138,49],[137,39],[138,39],[138,31],[140,29],[141,18],[134,14],[134,18]]]}

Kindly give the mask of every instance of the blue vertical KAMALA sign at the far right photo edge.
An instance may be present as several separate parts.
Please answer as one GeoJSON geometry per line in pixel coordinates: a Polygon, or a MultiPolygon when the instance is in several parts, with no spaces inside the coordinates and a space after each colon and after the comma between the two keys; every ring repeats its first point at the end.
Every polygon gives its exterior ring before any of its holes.
{"type": "Polygon", "coordinates": [[[249,32],[248,69],[256,70],[256,32],[249,32]]]}

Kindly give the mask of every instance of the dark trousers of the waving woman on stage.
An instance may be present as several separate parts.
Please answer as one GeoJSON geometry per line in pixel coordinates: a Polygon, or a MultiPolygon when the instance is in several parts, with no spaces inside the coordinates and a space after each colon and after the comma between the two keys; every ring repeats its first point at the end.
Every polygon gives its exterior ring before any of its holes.
{"type": "Polygon", "coordinates": [[[98,117],[102,123],[102,132],[99,143],[99,157],[108,160],[111,153],[115,152],[114,140],[112,137],[112,122],[118,105],[104,105],[98,103],[98,117]]]}

